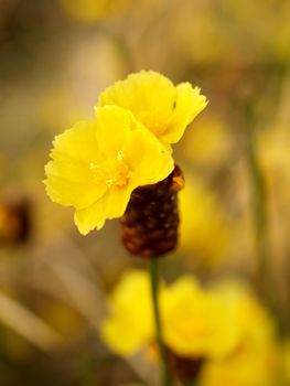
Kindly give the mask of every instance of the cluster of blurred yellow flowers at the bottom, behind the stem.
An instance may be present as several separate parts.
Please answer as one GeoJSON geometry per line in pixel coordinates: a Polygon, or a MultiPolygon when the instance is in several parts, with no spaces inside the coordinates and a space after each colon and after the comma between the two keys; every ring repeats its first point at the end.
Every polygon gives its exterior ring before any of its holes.
{"type": "MultiPolygon", "coordinates": [[[[148,275],[125,274],[109,299],[109,315],[101,328],[114,352],[131,355],[152,346],[149,303],[148,275]]],[[[273,385],[275,325],[245,285],[224,281],[203,289],[193,277],[184,276],[170,286],[163,283],[160,303],[167,347],[178,357],[202,361],[202,386],[273,385]]]]}

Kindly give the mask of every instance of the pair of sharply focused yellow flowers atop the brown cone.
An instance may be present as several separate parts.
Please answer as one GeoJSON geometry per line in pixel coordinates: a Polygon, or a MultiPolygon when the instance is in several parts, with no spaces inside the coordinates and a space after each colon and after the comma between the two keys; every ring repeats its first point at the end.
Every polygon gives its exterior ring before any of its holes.
{"type": "Polygon", "coordinates": [[[100,94],[96,121],[79,121],[57,136],[45,167],[52,201],[75,208],[86,235],[122,216],[132,191],[173,170],[171,143],[206,106],[198,88],[174,86],[155,72],[140,72],[100,94]]]}

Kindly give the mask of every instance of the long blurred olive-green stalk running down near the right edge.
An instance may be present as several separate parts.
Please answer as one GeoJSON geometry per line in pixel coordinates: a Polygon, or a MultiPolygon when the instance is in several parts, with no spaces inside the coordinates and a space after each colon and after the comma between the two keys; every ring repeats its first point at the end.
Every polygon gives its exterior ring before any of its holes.
{"type": "Polygon", "coordinates": [[[260,95],[260,104],[258,111],[254,111],[254,103],[249,101],[246,108],[246,129],[247,129],[247,158],[248,169],[251,179],[253,187],[253,216],[255,226],[255,236],[257,245],[257,256],[259,262],[259,279],[264,296],[268,301],[268,305],[277,317],[280,335],[284,335],[289,331],[288,322],[286,320],[286,312],[283,303],[279,297],[277,278],[275,277],[269,255],[269,228],[268,228],[268,197],[266,183],[260,170],[257,153],[256,153],[256,139],[255,139],[255,125],[257,115],[264,117],[268,121],[269,117],[277,114],[277,107],[279,106],[281,98],[281,90],[284,77],[287,75],[287,66],[273,68],[271,73],[271,82],[268,82],[268,86],[262,90],[260,95]],[[271,100],[271,109],[267,101],[271,100]],[[265,116],[265,111],[266,116],[265,116]]]}

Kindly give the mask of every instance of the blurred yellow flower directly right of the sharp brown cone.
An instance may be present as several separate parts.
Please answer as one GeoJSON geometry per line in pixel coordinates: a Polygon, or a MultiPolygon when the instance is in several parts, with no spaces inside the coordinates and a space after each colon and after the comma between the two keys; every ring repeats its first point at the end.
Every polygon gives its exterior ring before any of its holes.
{"type": "Polygon", "coordinates": [[[180,192],[180,248],[194,255],[194,264],[221,262],[227,255],[233,224],[215,193],[196,176],[187,178],[180,192]]]}

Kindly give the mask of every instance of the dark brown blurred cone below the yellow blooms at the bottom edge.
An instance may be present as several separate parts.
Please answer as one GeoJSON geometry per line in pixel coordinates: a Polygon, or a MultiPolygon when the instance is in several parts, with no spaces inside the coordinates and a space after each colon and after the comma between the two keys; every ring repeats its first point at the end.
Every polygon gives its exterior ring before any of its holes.
{"type": "Polygon", "coordinates": [[[179,380],[186,383],[189,380],[195,380],[198,377],[204,363],[203,358],[182,357],[170,350],[168,353],[172,373],[175,374],[179,380]]]}

